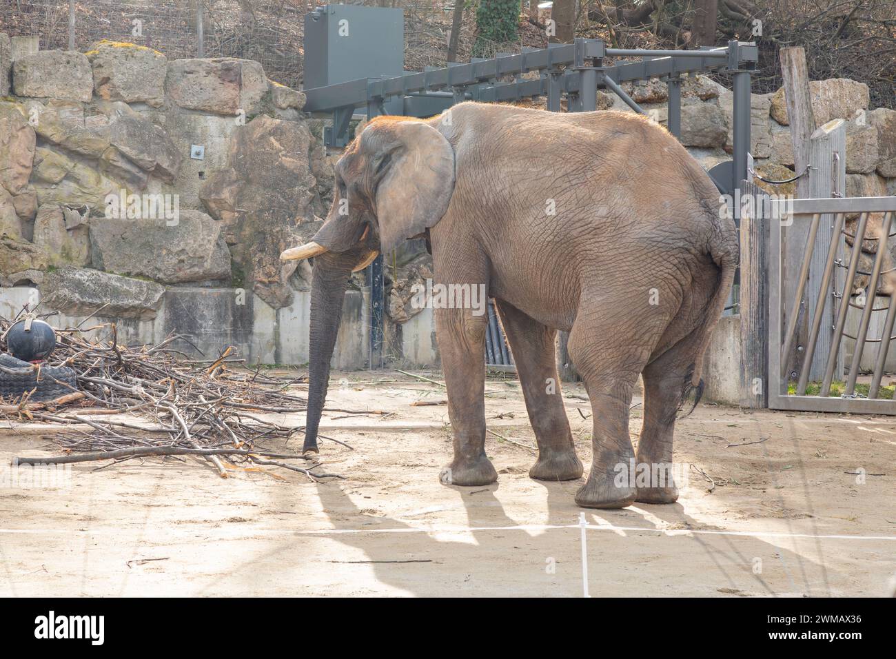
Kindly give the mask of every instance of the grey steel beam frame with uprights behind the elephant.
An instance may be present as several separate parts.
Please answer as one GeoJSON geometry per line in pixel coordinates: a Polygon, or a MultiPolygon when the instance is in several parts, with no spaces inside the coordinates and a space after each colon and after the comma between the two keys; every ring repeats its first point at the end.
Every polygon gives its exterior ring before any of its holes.
{"type": "MultiPolygon", "coordinates": [[[[421,97],[446,99],[453,105],[463,100],[499,102],[547,96],[547,109],[559,112],[565,95],[568,111],[589,112],[597,109],[598,90],[606,89],[635,112],[644,114],[620,83],[659,78],[668,85],[668,129],[680,137],[682,76],[725,71],[732,75],[734,88],[733,190],[735,182],[748,178],[750,74],[758,59],[756,45],[743,41],[728,41],[721,48],[700,50],[642,50],[607,48],[602,39],[575,39],[572,44],[473,58],[469,64],[308,89],[305,111],[331,115],[332,128],[324,131],[324,141],[328,146],[341,146],[346,143],[349,123],[357,108],[365,108],[367,117],[376,117],[385,114],[384,103],[395,98],[404,100],[404,107],[408,108],[409,102],[421,97]],[[607,57],[612,57],[614,64],[608,65],[607,57]],[[538,73],[538,78],[522,78],[531,73],[538,73]],[[499,82],[507,76],[515,80],[499,82]]],[[[366,278],[371,294],[370,367],[374,369],[383,366],[382,255],[368,266],[366,278]]]]}

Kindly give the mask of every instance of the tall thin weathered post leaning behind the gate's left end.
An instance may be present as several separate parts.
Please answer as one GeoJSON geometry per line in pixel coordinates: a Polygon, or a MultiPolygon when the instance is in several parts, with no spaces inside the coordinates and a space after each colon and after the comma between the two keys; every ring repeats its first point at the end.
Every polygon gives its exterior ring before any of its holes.
{"type": "MultiPolygon", "coordinates": [[[[809,165],[810,139],[815,131],[815,117],[812,112],[812,100],[809,93],[809,71],[806,66],[806,51],[803,48],[780,49],[781,77],[784,80],[788,120],[790,122],[790,140],[793,143],[794,170],[797,174],[806,171],[809,165]]],[[[807,199],[810,195],[809,178],[804,176],[797,180],[797,198],[807,199]]],[[[793,296],[797,292],[797,275],[799,266],[806,254],[806,239],[809,224],[797,218],[782,234],[782,251],[784,259],[781,276],[783,278],[783,295],[785,300],[784,325],[787,326],[786,314],[797,313],[797,340],[789,355],[781,359],[788,364],[788,373],[796,372],[801,355],[806,346],[808,324],[806,323],[806,299],[813,298],[813,289],[806,287],[806,295],[799,300],[797,309],[789,309],[793,296]]],[[[810,275],[810,280],[812,279],[810,275]]],[[[817,292],[817,288],[815,289],[817,292]]]]}

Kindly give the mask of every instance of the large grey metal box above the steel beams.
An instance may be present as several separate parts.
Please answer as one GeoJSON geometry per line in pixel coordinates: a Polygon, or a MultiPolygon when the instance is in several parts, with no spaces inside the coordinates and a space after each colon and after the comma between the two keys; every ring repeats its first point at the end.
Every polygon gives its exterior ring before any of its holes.
{"type": "Polygon", "coordinates": [[[401,9],[325,4],[305,15],[305,89],[401,75],[401,9]]]}

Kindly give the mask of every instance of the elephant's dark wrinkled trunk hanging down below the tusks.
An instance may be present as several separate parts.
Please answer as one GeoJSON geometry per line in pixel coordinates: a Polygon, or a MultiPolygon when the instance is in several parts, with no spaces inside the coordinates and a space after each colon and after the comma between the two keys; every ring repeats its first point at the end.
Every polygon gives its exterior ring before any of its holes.
{"type": "Polygon", "coordinates": [[[342,318],[342,299],[358,255],[327,252],[314,258],[308,338],[308,411],[304,451],[317,452],[317,429],[330,380],[330,360],[342,318]]]}

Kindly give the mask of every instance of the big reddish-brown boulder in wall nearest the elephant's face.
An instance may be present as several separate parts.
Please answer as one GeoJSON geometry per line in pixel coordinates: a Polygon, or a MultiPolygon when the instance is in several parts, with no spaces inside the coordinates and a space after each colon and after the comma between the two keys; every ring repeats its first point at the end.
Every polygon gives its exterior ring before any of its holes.
{"type": "Polygon", "coordinates": [[[235,265],[273,308],[292,301],[295,262],[281,263],[280,252],[298,244],[299,222],[315,219],[313,144],[305,122],[255,117],[234,132],[227,169],[200,190],[202,203],[224,225],[235,265]]]}

